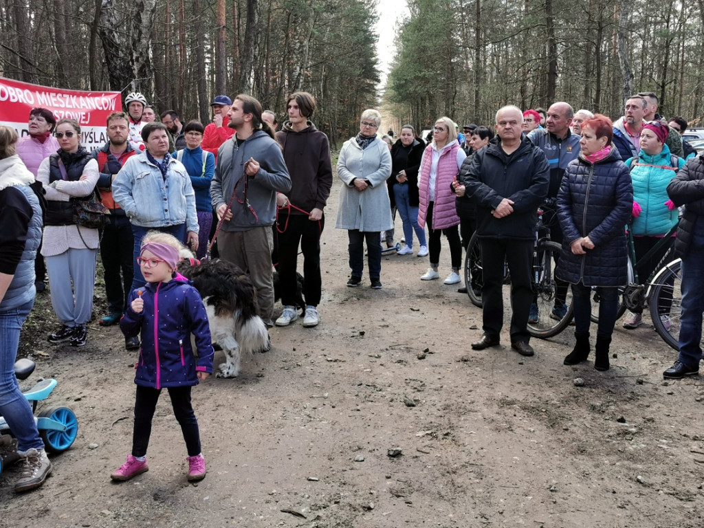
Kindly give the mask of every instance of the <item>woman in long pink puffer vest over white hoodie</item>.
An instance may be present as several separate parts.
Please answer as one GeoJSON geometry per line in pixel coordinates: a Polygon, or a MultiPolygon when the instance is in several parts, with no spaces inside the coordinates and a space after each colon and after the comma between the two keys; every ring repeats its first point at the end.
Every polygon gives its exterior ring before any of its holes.
{"type": "Polygon", "coordinates": [[[453,120],[439,118],[433,128],[433,141],[423,152],[418,174],[418,225],[428,225],[430,258],[430,268],[420,277],[421,280],[440,277],[438,263],[441,233],[445,234],[450,244],[452,261],[452,272],[445,279],[445,284],[457,284],[461,280],[459,272],[462,264],[462,244],[458,231],[460,218],[455,210],[455,195],[450,186],[466,157],[465,151],[460,149],[457,142],[457,127],[453,120]]]}

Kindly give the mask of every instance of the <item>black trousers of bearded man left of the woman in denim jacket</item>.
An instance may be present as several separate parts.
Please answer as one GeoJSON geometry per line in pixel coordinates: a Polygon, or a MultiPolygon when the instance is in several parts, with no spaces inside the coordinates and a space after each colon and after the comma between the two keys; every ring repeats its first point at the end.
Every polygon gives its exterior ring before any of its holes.
{"type": "Polygon", "coordinates": [[[134,237],[125,215],[110,215],[100,241],[100,256],[105,270],[105,294],[109,313],[125,313],[127,297],[134,279],[134,237]],[[120,278],[122,272],[122,278],[120,278]]]}

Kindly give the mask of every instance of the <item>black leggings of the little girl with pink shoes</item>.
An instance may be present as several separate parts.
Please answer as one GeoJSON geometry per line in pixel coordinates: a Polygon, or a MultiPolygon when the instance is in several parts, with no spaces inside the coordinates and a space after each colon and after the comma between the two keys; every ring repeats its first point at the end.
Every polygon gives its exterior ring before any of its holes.
{"type": "MultiPolygon", "coordinates": [[[[183,439],[189,456],[201,453],[201,435],[198,430],[198,420],[191,406],[191,387],[168,387],[171,406],[176,420],[181,426],[183,439]]],[[[134,432],[132,433],[132,456],[146,455],[151,436],[151,419],[156,410],[161,389],[152,389],[137,385],[137,399],[134,401],[134,432]]]]}

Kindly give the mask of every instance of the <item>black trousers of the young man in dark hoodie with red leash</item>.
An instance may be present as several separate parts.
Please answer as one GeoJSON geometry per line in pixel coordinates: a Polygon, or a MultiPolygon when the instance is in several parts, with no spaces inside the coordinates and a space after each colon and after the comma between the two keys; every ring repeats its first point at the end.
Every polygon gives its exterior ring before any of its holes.
{"type": "Polygon", "coordinates": [[[325,215],[320,222],[308,219],[306,215],[282,215],[279,212],[279,284],[281,303],[296,305],[296,265],[298,264],[298,244],[303,252],[303,298],[306,304],[318,306],[322,289],[320,275],[320,235],[325,227],[325,215]]]}

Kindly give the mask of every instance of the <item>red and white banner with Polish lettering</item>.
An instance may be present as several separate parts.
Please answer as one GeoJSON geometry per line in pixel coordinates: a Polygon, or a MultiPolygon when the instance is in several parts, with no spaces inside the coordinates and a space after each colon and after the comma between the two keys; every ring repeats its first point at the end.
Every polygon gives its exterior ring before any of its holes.
{"type": "Polygon", "coordinates": [[[108,141],[106,118],[122,111],[122,97],[120,92],[80,92],[0,77],[0,123],[26,136],[30,110],[37,107],[51,110],[56,120],[77,120],[81,143],[91,151],[108,141]]]}

